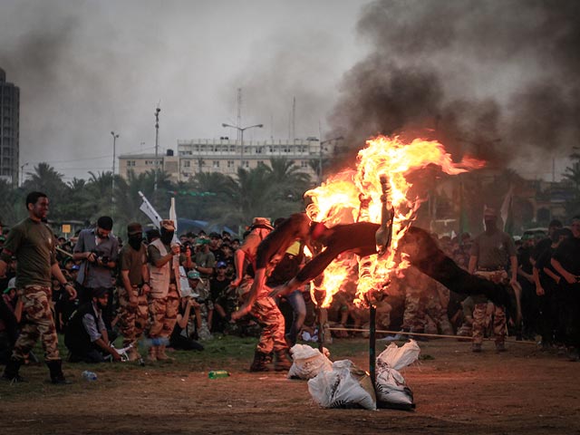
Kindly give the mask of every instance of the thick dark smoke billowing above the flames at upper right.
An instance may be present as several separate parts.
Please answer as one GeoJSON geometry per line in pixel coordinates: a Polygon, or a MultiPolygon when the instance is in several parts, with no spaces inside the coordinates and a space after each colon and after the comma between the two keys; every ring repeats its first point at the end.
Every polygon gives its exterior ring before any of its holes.
{"type": "Polygon", "coordinates": [[[343,158],[375,134],[441,140],[505,167],[580,139],[580,2],[377,0],[372,53],[343,77],[330,123],[343,158]]]}

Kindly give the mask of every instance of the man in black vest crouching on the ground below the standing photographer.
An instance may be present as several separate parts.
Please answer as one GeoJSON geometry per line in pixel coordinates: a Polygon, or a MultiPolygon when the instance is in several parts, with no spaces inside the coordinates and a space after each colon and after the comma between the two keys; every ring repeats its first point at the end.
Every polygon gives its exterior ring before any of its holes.
{"type": "Polygon", "coordinates": [[[105,362],[103,354],[110,354],[113,361],[121,361],[121,355],[109,343],[102,320],[108,298],[106,288],[93,288],[91,302],[81,304],[71,317],[64,333],[70,362],[105,362]]]}

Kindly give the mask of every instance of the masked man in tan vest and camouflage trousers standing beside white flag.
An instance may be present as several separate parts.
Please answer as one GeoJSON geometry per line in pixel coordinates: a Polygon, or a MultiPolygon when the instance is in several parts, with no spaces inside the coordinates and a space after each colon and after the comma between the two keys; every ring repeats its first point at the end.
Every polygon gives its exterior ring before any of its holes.
{"type": "MultiPolygon", "coordinates": [[[[150,267],[150,294],[148,298],[151,339],[169,343],[169,336],[177,321],[179,311],[179,251],[177,243],[171,243],[175,225],[172,220],[162,220],[159,237],[155,234],[147,248],[150,267]]],[[[153,234],[153,233],[150,233],[153,234]]],[[[191,253],[186,249],[181,258],[185,266],[192,266],[191,253]]],[[[166,344],[150,346],[150,361],[167,361],[166,344]]]]}

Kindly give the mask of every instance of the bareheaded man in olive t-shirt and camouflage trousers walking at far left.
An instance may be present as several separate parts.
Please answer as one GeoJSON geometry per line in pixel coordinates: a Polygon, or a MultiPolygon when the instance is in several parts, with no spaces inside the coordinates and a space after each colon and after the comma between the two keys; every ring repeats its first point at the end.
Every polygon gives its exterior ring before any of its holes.
{"type": "Polygon", "coordinates": [[[61,272],[56,261],[53,231],[44,224],[48,213],[48,198],[41,192],[32,192],[26,197],[26,208],[28,218],[10,230],[0,256],[0,276],[5,275],[7,263],[12,261],[12,256],[16,257],[16,293],[22,299],[26,319],[14,343],[12,357],[6,364],[3,378],[11,382],[24,381],[18,374],[20,366],[40,337],[51,381],[70,383],[63,375],[56,327],[50,309],[51,275],[64,286],[71,299],[76,297],[76,290],[66,282],[61,272]]]}

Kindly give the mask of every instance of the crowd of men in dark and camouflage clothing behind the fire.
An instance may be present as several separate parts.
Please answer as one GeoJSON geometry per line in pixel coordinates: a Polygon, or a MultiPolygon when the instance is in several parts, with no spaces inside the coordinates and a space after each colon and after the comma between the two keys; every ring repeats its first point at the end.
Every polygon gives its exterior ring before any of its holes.
{"type": "MultiPolygon", "coordinates": [[[[52,382],[67,383],[57,332],[64,334],[69,362],[120,361],[123,355],[142,361],[139,343],[146,343],[150,362],[168,361],[168,347],[203,350],[198,342],[212,333],[252,334],[259,340],[250,371],[264,372],[272,360],[275,370],[287,370],[289,347],[322,333],[316,324],[333,324],[334,336],[344,337],[349,333],[343,326],[368,321],[367,310],[353,304],[354,280],[344,282],[327,312],[318,310],[318,319],[306,285],[271,291],[301,282],[296,276],[307,261],[304,247],[314,239],[324,242],[326,237],[326,254],[333,250],[336,234],[304,214],[277,219],[275,225],[255,218],[241,241],[227,232],[177,237],[171,220],[147,231],[133,222],[121,246],[106,216],[73,240],[57,239],[45,223],[48,203],[41,192],[29,194],[28,218],[0,239],[0,285],[5,289],[0,358],[7,380],[23,381],[20,367],[35,359],[32,351],[40,338],[52,382]],[[286,304],[280,305],[279,295],[286,304]],[[122,344],[115,348],[111,343],[118,335],[122,344]]],[[[411,267],[393,280],[390,297],[378,304],[379,329],[469,334],[476,353],[487,335],[504,352],[511,322],[518,337],[540,335],[543,349],[559,349],[577,361],[580,218],[572,219],[570,229],[554,221],[546,239],[527,238],[518,248],[498,228],[493,209],[486,210],[485,223],[478,237],[433,237],[470,274],[514,288],[521,295],[523,323],[507,319],[503,308],[485,296],[460,298],[411,267]]]]}

